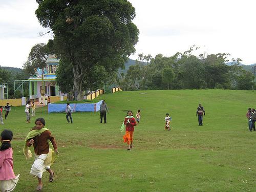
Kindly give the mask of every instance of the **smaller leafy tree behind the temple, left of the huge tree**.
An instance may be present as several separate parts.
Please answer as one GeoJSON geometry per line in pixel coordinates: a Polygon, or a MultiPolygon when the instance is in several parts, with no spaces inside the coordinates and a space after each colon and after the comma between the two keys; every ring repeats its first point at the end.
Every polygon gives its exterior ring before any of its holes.
{"type": "Polygon", "coordinates": [[[36,44],[32,47],[28,60],[23,64],[23,69],[27,74],[34,75],[35,68],[43,69],[46,67],[47,56],[52,53],[46,44],[36,44]]]}

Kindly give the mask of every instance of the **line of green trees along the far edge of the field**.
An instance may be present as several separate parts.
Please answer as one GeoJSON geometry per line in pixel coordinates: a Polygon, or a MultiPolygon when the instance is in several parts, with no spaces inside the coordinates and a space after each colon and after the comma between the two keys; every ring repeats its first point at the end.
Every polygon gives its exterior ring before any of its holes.
{"type": "MultiPolygon", "coordinates": [[[[139,54],[135,66],[117,81],[125,91],[162,89],[252,89],[253,74],[240,66],[242,59],[232,59],[227,66],[226,53],[193,55],[195,46],[170,57],[139,54]],[[148,59],[150,58],[150,59],[148,59]],[[146,60],[147,59],[147,60],[146,60]],[[146,65],[145,65],[145,61],[146,65]]],[[[198,48],[196,48],[198,49],[198,48]]]]}

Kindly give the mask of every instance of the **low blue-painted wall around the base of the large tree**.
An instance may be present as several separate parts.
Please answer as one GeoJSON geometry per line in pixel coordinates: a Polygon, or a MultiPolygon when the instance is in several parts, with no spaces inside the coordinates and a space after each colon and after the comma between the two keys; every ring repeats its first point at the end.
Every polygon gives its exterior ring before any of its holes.
{"type": "MultiPolygon", "coordinates": [[[[71,103],[71,112],[97,112],[102,100],[97,103],[71,103]]],[[[48,104],[48,113],[66,112],[67,104],[48,104]]]]}

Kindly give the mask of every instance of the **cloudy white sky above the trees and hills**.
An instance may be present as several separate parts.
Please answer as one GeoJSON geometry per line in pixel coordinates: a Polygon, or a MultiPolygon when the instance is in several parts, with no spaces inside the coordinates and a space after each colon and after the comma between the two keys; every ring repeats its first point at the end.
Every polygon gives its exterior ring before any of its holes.
{"type": "MultiPolygon", "coordinates": [[[[140,30],[136,53],[172,56],[190,46],[195,54],[230,53],[242,63],[256,63],[254,0],[130,0],[140,30]]],[[[0,0],[0,65],[22,68],[31,48],[51,36],[35,16],[35,0],[0,0]]]]}

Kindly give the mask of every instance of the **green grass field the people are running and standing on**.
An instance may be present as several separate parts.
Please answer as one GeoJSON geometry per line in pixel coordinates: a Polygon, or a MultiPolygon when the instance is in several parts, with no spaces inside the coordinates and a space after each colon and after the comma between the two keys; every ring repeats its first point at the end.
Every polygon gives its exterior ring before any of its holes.
{"type": "Polygon", "coordinates": [[[26,124],[24,107],[12,108],[0,130],[14,133],[14,172],[20,174],[15,191],[35,191],[26,161],[24,139],[35,118],[44,117],[56,138],[59,158],[52,165],[53,183],[43,176],[43,191],[256,191],[256,132],[245,117],[255,108],[253,91],[170,90],[117,92],[101,95],[109,106],[108,123],[97,113],[47,114],[36,109],[26,124]],[[204,106],[204,126],[198,126],[198,103],[204,106]],[[126,150],[120,126],[127,110],[141,110],[134,147],[126,150]],[[165,113],[172,131],[164,130],[165,113]]]}

